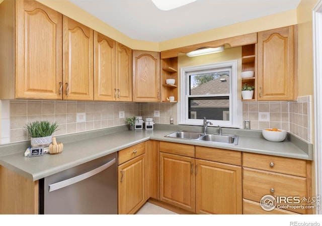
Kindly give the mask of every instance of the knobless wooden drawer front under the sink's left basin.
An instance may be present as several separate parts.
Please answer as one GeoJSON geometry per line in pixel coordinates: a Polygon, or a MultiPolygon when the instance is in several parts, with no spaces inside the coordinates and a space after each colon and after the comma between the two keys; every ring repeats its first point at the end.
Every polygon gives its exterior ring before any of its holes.
{"type": "Polygon", "coordinates": [[[182,155],[182,156],[194,158],[195,157],[195,146],[160,141],[160,152],[165,152],[165,153],[182,155]]]}

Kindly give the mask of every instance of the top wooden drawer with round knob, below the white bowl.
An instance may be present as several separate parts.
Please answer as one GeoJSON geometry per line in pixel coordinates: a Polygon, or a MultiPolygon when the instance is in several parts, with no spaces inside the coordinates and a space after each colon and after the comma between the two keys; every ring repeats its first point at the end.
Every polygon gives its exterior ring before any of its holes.
{"type": "Polygon", "coordinates": [[[306,161],[279,156],[243,153],[243,166],[306,177],[306,161]]]}

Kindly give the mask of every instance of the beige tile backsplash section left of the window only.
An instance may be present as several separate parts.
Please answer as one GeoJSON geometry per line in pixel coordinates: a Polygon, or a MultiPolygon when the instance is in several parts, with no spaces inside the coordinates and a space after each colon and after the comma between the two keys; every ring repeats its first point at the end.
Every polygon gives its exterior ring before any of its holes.
{"type": "Polygon", "coordinates": [[[165,124],[169,124],[170,116],[173,115],[177,124],[175,103],[10,100],[10,142],[29,140],[25,127],[33,121],[57,122],[59,130],[54,136],[125,125],[124,119],[119,117],[120,111],[124,111],[125,118],[149,117],[155,123],[165,124]],[[159,117],[154,117],[154,110],[159,111],[159,117]],[[77,113],[85,113],[86,121],[77,122],[77,113]]]}

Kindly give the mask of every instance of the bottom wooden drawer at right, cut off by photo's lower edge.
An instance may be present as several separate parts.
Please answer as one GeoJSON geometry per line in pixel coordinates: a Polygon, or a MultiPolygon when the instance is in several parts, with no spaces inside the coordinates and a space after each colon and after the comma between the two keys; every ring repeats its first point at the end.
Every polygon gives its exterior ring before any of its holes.
{"type": "Polygon", "coordinates": [[[243,199],[243,214],[297,214],[285,209],[274,208],[271,211],[264,210],[260,203],[243,199]]]}

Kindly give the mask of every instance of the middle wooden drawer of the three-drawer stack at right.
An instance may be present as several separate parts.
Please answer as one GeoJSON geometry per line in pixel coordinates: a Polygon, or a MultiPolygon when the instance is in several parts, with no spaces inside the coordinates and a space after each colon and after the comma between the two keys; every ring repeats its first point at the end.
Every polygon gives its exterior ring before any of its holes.
{"type": "MultiPolygon", "coordinates": [[[[306,178],[262,170],[243,169],[243,198],[260,202],[264,195],[306,197],[306,178]]],[[[280,203],[283,204],[283,203],[280,203]]],[[[286,203],[287,204],[287,203],[286,203]]],[[[288,209],[305,213],[305,209],[288,209]]]]}

